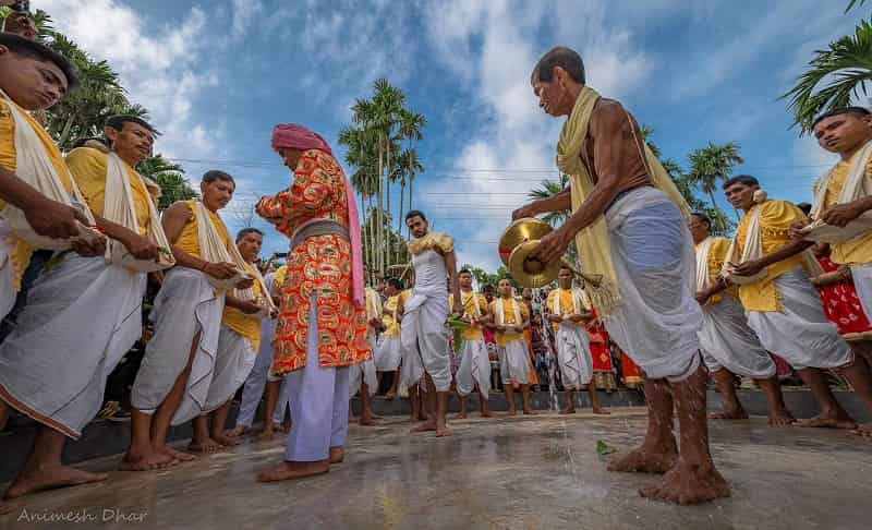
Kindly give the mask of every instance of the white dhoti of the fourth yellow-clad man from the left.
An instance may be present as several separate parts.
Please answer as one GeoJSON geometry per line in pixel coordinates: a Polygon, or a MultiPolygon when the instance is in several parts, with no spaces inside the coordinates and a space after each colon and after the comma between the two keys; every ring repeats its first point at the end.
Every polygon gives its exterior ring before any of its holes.
{"type": "Polygon", "coordinates": [[[206,396],[206,406],[203,408],[204,414],[219,408],[233,397],[245,384],[256,359],[257,354],[247,338],[227,326],[221,326],[221,332],[218,334],[215,371],[206,396]]]}

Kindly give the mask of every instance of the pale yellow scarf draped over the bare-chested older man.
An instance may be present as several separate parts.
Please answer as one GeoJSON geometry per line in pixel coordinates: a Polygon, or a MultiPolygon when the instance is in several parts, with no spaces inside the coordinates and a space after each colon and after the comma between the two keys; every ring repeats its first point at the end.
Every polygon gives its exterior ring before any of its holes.
{"type": "MultiPolygon", "coordinates": [[[[564,123],[560,131],[560,140],[557,143],[557,167],[560,171],[570,176],[570,190],[572,195],[572,212],[584,204],[594,188],[594,181],[588,171],[588,166],[582,164],[581,158],[588,157],[585,140],[591,124],[591,116],[600,99],[600,94],[593,88],[584,86],[576,99],[572,113],[564,123]]],[[[630,120],[630,115],[627,115],[630,120]]],[[[685,197],[678,191],[669,173],[663,169],[659,160],[647,145],[645,149],[645,167],[647,169],[651,184],[663,192],[678,206],[685,214],[690,215],[690,207],[685,197]]],[[[602,315],[607,315],[620,303],[620,290],[615,274],[615,265],[611,263],[611,242],[608,237],[608,229],[603,216],[596,219],[593,225],[579,231],[576,234],[576,246],[581,257],[581,267],[585,273],[598,274],[603,276],[600,287],[588,287],[588,294],[591,297],[596,311],[602,315]]]]}

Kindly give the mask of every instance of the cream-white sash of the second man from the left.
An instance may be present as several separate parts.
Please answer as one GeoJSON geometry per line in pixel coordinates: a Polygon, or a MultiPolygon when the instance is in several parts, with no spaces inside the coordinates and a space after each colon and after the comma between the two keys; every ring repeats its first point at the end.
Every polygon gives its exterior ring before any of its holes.
{"type": "MultiPolygon", "coordinates": [[[[121,225],[122,227],[140,234],[140,220],[136,217],[136,207],[133,203],[133,189],[128,180],[128,171],[124,162],[114,153],[106,155],[106,194],[102,203],[102,215],[108,220],[121,225]]],[[[140,173],[134,171],[135,179],[141,179],[140,173]]],[[[143,183],[145,186],[145,183],[143,183]]],[[[136,260],[118,241],[109,240],[106,245],[106,261],[121,265],[140,273],[152,273],[162,270],[175,265],[175,258],[170,251],[170,242],[164,233],[160,217],[157,208],[152,202],[152,196],[146,193],[148,202],[148,230],[146,237],[155,243],[158,249],[157,260],[136,260]]]]}

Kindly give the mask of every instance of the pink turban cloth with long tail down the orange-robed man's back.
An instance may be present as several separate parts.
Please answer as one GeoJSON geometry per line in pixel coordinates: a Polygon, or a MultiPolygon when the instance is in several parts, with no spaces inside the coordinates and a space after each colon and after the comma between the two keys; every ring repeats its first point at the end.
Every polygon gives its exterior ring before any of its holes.
{"type": "MultiPolygon", "coordinates": [[[[320,134],[296,123],[280,123],[272,129],[272,148],[279,149],[319,149],[334,156],[330,145],[320,134]]],[[[334,157],[336,158],[336,157],[334,157]]],[[[337,160],[338,162],[338,160],[337,160]]],[[[354,201],[354,189],[351,181],[342,173],[348,200],[348,231],[351,240],[351,296],[354,304],[362,308],[366,303],[363,289],[363,242],[361,240],[361,220],[358,203],[354,201]]]]}

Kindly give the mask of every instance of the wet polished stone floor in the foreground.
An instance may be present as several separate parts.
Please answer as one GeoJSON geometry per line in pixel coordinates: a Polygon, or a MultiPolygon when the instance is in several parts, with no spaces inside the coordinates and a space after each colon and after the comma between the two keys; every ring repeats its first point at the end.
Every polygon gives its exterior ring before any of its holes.
{"type": "Polygon", "coordinates": [[[638,444],[642,409],[473,418],[453,422],[450,438],[410,435],[409,425],[397,417],[353,425],[346,462],[317,478],[256,483],[282,447],[251,441],[169,471],[112,472],[100,484],[35,495],[0,528],[872,528],[872,443],[843,432],[775,430],[760,418],[713,423],[713,454],[732,497],[679,507],[641,498],[637,490],[657,478],[609,473],[596,453],[597,439],[638,444]],[[66,513],[84,522],[37,520],[66,513]]]}

